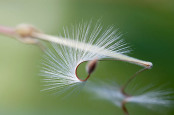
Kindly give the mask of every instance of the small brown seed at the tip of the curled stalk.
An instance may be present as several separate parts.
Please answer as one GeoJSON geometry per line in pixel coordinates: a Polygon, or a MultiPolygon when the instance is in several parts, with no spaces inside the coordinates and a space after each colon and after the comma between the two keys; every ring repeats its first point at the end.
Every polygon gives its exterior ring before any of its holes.
{"type": "Polygon", "coordinates": [[[97,61],[98,61],[97,59],[94,59],[87,64],[86,69],[87,69],[88,74],[91,74],[95,70],[97,61]]]}

